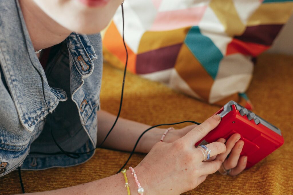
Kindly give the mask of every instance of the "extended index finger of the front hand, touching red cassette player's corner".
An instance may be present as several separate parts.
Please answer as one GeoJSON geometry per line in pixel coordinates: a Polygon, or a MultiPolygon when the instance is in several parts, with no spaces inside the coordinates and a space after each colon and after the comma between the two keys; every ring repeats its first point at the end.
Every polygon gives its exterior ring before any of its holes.
{"type": "Polygon", "coordinates": [[[182,138],[190,142],[190,144],[194,145],[194,143],[205,137],[205,135],[208,134],[208,132],[216,128],[219,125],[220,121],[220,115],[213,115],[207,120],[205,120],[205,122],[203,122],[202,124],[196,126],[193,130],[188,132],[182,138]]]}

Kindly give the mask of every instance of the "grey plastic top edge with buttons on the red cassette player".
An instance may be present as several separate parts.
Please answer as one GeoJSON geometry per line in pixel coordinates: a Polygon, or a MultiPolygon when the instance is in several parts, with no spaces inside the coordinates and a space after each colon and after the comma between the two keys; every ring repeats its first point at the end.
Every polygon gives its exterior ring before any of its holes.
{"type": "MultiPolygon", "coordinates": [[[[229,101],[228,103],[226,103],[224,105],[224,110],[221,113],[219,113],[219,115],[221,116],[221,118],[223,118],[226,114],[228,114],[229,112],[232,111],[232,108],[231,108],[232,105],[235,105],[236,106],[236,109],[239,110],[239,111],[242,110],[242,109],[244,109],[244,107],[241,106],[241,105],[239,105],[237,102],[235,102],[235,101],[229,101]]],[[[250,113],[253,113],[253,112],[251,112],[250,110],[248,110],[248,113],[246,114],[246,116],[248,114],[250,114],[250,113]]],[[[258,119],[261,124],[263,124],[264,126],[268,127],[270,130],[272,130],[272,131],[274,131],[277,134],[279,134],[279,135],[282,136],[281,130],[279,128],[275,127],[274,125],[272,125],[271,123],[269,123],[268,121],[264,120],[263,118],[261,118],[258,115],[255,115],[255,117],[253,118],[253,120],[255,120],[255,119],[258,119]]],[[[258,124],[260,124],[260,123],[258,123],[258,124]]]]}

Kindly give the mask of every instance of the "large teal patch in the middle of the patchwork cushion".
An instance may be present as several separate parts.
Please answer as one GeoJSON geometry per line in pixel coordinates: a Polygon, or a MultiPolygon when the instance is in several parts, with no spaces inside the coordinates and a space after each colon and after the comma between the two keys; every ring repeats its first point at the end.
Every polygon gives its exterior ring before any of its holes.
{"type": "Polygon", "coordinates": [[[184,42],[207,73],[215,79],[223,54],[212,40],[202,35],[198,26],[193,26],[189,30],[184,42]]]}

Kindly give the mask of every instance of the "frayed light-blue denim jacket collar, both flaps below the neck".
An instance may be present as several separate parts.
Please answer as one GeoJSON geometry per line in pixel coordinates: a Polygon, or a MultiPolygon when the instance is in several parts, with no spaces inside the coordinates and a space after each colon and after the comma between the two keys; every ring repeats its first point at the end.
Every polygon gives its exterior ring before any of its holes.
{"type": "MultiPolygon", "coordinates": [[[[52,112],[59,101],[66,101],[66,93],[51,88],[45,72],[35,54],[18,0],[0,1],[0,64],[19,119],[26,130],[32,132],[39,120],[47,114],[44,93],[52,112]]],[[[67,38],[69,52],[82,78],[93,72],[93,60],[97,58],[86,35],[72,33],[67,38]]]]}

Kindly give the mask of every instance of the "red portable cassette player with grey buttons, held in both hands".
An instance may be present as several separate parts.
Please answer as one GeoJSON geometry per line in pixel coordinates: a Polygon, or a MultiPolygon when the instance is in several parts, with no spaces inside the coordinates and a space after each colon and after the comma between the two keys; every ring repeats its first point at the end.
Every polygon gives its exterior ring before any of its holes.
{"type": "Polygon", "coordinates": [[[246,169],[252,167],[282,146],[284,139],[280,129],[255,115],[235,101],[229,101],[216,114],[220,124],[195,145],[206,145],[223,137],[226,140],[234,133],[244,141],[241,156],[247,156],[246,169]]]}

